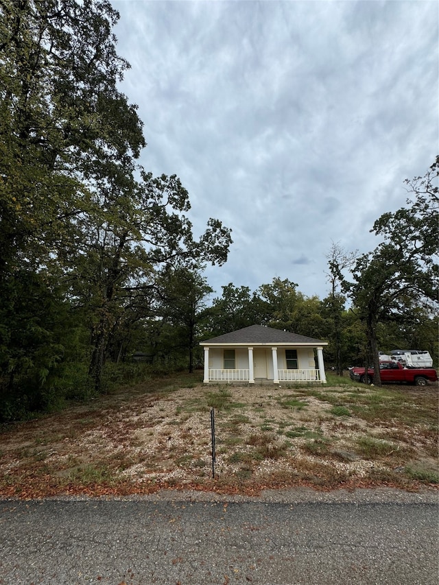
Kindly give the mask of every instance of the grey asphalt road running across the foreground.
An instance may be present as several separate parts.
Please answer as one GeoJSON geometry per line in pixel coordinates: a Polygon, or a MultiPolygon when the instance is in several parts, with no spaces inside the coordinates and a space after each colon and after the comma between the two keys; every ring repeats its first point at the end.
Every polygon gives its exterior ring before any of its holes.
{"type": "Polygon", "coordinates": [[[438,585],[437,501],[378,500],[3,500],[0,584],[438,585]]]}

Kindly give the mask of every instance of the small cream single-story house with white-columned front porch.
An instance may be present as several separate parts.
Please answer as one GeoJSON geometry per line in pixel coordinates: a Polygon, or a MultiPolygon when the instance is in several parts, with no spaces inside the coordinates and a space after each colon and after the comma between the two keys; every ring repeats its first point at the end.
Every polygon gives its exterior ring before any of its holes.
{"type": "Polygon", "coordinates": [[[281,329],[244,327],[200,343],[204,348],[203,381],[326,383],[323,346],[327,345],[281,329]]]}

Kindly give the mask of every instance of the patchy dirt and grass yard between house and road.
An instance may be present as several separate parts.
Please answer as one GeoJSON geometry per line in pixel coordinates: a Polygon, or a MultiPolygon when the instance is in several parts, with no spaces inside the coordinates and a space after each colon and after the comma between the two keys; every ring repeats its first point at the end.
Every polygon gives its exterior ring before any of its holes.
{"type": "Polygon", "coordinates": [[[0,495],[438,486],[436,385],[184,386],[152,381],[3,428],[0,495]]]}

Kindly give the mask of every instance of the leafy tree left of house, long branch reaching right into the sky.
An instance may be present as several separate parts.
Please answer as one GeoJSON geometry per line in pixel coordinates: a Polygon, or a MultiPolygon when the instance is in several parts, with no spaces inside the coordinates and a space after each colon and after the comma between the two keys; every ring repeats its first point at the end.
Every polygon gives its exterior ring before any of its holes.
{"type": "MultiPolygon", "coordinates": [[[[186,212],[189,193],[175,176],[141,171],[141,181],[125,172],[109,173],[91,189],[92,211],[76,220],[80,237],[64,279],[88,313],[91,324],[89,373],[99,389],[106,350],[119,326],[152,312],[156,272],[181,263],[227,259],[230,230],[209,219],[193,238],[186,212]],[[133,311],[134,305],[137,311],[133,311]],[[142,314],[143,309],[143,314],[142,314]]],[[[69,259],[64,265],[67,265],[69,259]]],[[[170,274],[170,272],[169,272],[170,274]]]]}

